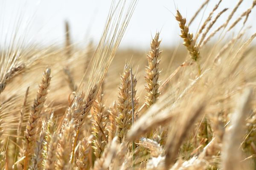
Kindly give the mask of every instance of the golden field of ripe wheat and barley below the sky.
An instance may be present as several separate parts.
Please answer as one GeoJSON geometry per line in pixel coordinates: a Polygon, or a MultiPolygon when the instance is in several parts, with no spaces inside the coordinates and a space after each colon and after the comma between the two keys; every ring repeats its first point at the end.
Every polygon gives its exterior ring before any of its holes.
{"type": "Polygon", "coordinates": [[[256,169],[256,0],[216,1],[196,32],[209,0],[192,17],[172,11],[182,45],[154,32],[147,54],[119,50],[138,1],[110,1],[84,48],[68,22],[64,47],[14,36],[1,48],[0,170],[256,169]]]}

